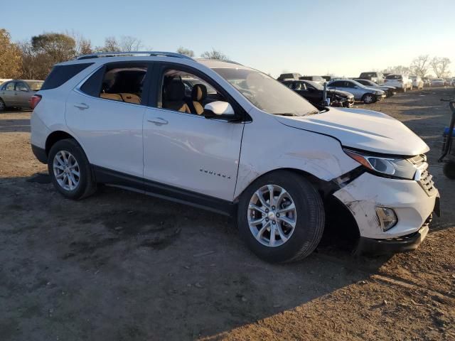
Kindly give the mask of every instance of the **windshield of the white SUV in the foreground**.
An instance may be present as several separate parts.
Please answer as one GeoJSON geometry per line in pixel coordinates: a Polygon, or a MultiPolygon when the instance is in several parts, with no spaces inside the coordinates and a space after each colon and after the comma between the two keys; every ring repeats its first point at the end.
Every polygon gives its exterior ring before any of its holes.
{"type": "Polygon", "coordinates": [[[289,87],[257,70],[214,68],[213,71],[230,82],[255,107],[269,114],[304,116],[318,112],[289,87]]]}

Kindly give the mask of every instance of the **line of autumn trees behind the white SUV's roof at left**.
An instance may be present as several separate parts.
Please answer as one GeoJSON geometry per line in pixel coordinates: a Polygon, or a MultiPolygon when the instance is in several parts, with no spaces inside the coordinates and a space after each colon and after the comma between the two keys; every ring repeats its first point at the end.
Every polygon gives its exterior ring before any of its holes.
{"type": "MultiPolygon", "coordinates": [[[[132,36],[107,37],[101,46],[76,32],[43,33],[14,43],[11,35],[0,28],[0,78],[43,80],[55,63],[73,60],[80,55],[97,52],[127,52],[141,50],[144,44],[132,36]]],[[[151,49],[151,48],[150,48],[151,49]]],[[[194,57],[193,50],[180,47],[178,53],[194,57]]],[[[228,60],[224,53],[212,48],[202,58],[228,60]]]]}

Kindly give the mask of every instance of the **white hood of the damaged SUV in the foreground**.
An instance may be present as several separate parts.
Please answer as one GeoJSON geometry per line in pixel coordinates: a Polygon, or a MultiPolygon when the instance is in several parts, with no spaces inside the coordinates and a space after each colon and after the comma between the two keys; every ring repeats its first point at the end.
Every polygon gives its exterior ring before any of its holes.
{"type": "Polygon", "coordinates": [[[363,151],[403,156],[429,151],[427,144],[405,124],[372,110],[330,108],[306,117],[276,117],[287,126],[333,136],[343,146],[363,151]]]}

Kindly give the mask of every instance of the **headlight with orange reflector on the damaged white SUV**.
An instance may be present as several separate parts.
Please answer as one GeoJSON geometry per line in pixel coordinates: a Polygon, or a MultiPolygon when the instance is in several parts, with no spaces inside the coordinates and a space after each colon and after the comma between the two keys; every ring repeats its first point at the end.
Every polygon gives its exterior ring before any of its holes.
{"type": "Polygon", "coordinates": [[[387,156],[373,156],[361,151],[344,149],[355,161],[377,173],[389,175],[393,178],[414,179],[417,168],[405,158],[388,158],[387,156]]]}

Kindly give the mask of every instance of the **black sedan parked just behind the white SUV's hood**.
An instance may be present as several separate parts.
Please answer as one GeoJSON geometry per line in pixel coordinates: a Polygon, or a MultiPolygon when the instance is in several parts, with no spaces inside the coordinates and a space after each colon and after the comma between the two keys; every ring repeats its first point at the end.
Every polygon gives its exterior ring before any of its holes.
{"type": "MultiPolygon", "coordinates": [[[[318,82],[312,80],[284,80],[283,84],[294,90],[304,97],[311,104],[323,105],[324,87],[318,82]]],[[[354,104],[354,95],[350,92],[339,90],[326,90],[326,97],[330,99],[332,107],[352,107],[354,104]]]]}

